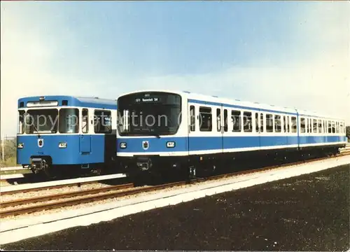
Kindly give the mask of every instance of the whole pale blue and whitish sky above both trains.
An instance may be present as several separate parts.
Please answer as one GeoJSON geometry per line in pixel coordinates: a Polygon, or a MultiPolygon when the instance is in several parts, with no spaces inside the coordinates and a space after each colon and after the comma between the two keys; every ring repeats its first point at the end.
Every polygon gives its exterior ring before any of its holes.
{"type": "Polygon", "coordinates": [[[316,1],[1,2],[4,129],[14,132],[19,97],[114,99],[161,87],[341,116],[349,10],[316,1]]]}

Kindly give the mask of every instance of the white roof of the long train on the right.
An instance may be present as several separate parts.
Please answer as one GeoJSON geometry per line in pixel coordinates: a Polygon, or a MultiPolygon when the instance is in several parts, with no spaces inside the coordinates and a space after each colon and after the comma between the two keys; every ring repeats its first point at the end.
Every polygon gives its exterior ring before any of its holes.
{"type": "Polygon", "coordinates": [[[195,92],[189,92],[189,91],[179,91],[179,90],[138,90],[135,92],[128,92],[125,94],[121,94],[120,96],[127,95],[127,94],[133,94],[136,92],[171,92],[174,94],[181,94],[183,96],[188,97],[188,99],[193,100],[199,100],[209,103],[221,103],[221,104],[230,104],[235,106],[241,106],[251,109],[264,109],[266,111],[276,111],[276,112],[286,112],[286,113],[299,113],[300,115],[304,116],[311,116],[311,117],[319,117],[319,118],[327,118],[327,119],[333,119],[333,120],[343,120],[339,118],[334,118],[332,116],[323,115],[321,113],[317,113],[314,111],[306,111],[306,110],[300,110],[297,108],[288,108],[288,107],[282,107],[282,106],[274,106],[269,104],[262,104],[258,102],[246,102],[241,101],[239,99],[229,99],[226,97],[217,97],[217,96],[211,96],[207,94],[197,94],[195,92]]]}

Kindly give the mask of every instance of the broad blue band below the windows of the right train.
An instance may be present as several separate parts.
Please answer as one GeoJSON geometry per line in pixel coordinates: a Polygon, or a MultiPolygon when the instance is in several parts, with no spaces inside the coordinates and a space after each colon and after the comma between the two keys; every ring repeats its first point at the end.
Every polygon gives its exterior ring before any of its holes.
{"type": "MultiPolygon", "coordinates": [[[[118,139],[117,151],[120,153],[154,153],[176,151],[208,151],[229,148],[253,148],[267,146],[297,145],[298,137],[161,137],[157,138],[123,138],[118,139]],[[142,142],[148,141],[147,150],[142,142]],[[174,148],[167,148],[167,141],[176,143],[174,148]],[[120,143],[127,143],[127,148],[120,148],[120,143]]],[[[345,141],[345,137],[319,136],[299,137],[300,144],[321,144],[345,141]]]]}

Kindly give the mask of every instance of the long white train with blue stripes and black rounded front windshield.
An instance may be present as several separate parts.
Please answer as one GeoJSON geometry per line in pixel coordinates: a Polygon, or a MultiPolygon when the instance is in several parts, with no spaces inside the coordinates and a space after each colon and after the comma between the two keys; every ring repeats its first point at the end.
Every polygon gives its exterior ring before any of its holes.
{"type": "Polygon", "coordinates": [[[191,92],[118,97],[117,157],[129,174],[215,169],[241,156],[337,153],[344,120],[191,92]]]}

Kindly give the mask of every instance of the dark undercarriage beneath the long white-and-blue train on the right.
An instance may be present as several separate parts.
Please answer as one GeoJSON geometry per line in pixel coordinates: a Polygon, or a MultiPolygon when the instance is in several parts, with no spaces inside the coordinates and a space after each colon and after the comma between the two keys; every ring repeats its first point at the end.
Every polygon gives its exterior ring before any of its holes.
{"type": "Polygon", "coordinates": [[[149,179],[194,179],[242,169],[254,169],[269,165],[297,162],[311,158],[337,155],[342,146],[320,146],[318,148],[290,148],[273,151],[244,151],[191,155],[183,157],[162,157],[160,155],[139,155],[119,157],[120,166],[133,180],[149,179]]]}

